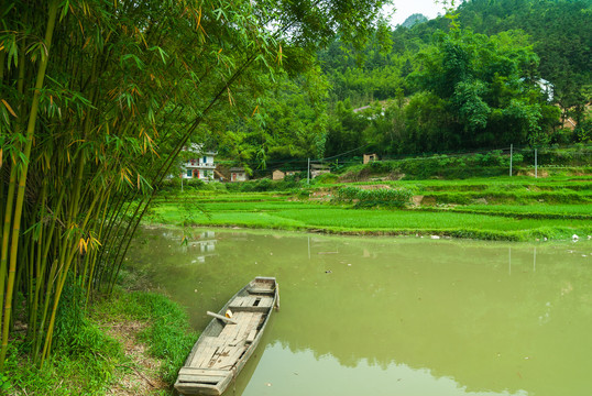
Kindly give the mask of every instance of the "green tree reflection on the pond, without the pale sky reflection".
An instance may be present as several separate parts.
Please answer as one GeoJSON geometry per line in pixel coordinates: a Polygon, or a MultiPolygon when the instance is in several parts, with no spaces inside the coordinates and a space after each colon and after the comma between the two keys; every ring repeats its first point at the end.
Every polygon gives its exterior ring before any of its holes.
{"type": "Polygon", "coordinates": [[[216,237],[219,256],[191,266],[165,253],[155,276],[168,293],[190,296],[184,304],[198,311],[216,310],[256,275],[276,276],[282,311],[272,336],[293,352],[330,354],[347,367],[361,360],[426,367],[468,391],[528,385],[542,394],[560,378],[575,394],[581,385],[573,369],[585,366],[582,351],[590,349],[592,274],[581,254],[567,253],[573,245],[539,245],[535,264],[534,245],[523,244],[216,237]]]}

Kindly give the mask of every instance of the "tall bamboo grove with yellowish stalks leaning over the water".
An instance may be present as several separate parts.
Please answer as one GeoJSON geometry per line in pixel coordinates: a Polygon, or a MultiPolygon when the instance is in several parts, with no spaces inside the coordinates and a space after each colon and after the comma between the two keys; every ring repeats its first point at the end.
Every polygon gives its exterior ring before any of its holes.
{"type": "Polygon", "coordinates": [[[223,128],[261,76],[361,42],[381,1],[0,0],[1,353],[14,323],[51,355],[59,300],[109,293],[196,130],[223,128]]]}

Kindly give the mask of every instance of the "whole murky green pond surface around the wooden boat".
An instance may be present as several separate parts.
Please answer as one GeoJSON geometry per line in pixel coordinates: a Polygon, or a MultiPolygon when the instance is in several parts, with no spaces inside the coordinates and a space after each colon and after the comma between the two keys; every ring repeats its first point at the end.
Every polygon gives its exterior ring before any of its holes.
{"type": "Polygon", "coordinates": [[[592,394],[592,244],[144,230],[196,329],[256,275],[281,311],[227,395],[592,394]]]}

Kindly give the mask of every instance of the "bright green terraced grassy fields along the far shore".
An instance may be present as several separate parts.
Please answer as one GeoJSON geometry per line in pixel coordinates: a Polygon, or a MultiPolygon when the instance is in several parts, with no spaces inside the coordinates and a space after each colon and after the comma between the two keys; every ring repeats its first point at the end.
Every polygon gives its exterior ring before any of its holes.
{"type": "Polygon", "coordinates": [[[199,190],[161,199],[149,222],[248,227],[346,234],[438,234],[527,241],[592,235],[592,178],[498,177],[316,184],[273,195],[199,190]],[[406,190],[404,209],[336,199],[343,186],[406,190]],[[303,198],[304,197],[304,198],[303,198]]]}

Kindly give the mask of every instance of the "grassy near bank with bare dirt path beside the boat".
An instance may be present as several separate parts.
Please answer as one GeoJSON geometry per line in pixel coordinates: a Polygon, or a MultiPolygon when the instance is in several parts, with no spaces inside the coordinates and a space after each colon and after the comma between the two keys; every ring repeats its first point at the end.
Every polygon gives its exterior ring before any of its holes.
{"type": "Polygon", "coordinates": [[[144,292],[117,290],[87,310],[72,290],[66,299],[43,370],[26,360],[25,329],[15,332],[20,339],[11,343],[0,394],[173,395],[178,369],[197,339],[179,306],[144,292]]]}

